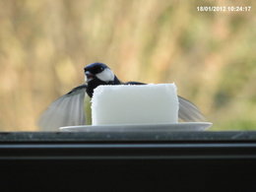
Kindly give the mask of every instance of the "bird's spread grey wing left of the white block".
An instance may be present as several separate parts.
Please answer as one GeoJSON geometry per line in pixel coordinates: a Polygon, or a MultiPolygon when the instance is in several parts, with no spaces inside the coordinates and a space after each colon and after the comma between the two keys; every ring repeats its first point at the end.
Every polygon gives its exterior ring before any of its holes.
{"type": "Polygon", "coordinates": [[[42,131],[57,131],[62,126],[85,125],[86,85],[73,89],[53,101],[39,118],[42,131]]]}

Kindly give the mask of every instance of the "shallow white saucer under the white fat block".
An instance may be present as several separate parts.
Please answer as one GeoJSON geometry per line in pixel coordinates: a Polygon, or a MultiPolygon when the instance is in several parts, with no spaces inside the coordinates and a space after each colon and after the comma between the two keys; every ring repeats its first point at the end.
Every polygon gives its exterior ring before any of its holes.
{"type": "Polygon", "coordinates": [[[182,122],[168,124],[123,124],[123,125],[80,125],[60,127],[67,132],[171,132],[204,131],[211,127],[211,122],[182,122]]]}

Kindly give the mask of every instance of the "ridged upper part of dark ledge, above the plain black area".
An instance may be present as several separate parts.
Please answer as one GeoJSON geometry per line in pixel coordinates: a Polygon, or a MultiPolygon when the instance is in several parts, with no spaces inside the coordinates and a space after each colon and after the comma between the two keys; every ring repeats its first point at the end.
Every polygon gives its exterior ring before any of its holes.
{"type": "Polygon", "coordinates": [[[256,132],[2,132],[0,160],[256,159],[256,132]]]}

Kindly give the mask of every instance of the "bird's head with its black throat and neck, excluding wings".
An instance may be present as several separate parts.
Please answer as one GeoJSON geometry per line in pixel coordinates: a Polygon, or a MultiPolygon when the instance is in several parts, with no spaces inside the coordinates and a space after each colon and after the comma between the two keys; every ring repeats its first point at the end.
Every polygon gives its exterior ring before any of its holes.
{"type": "Polygon", "coordinates": [[[85,67],[87,94],[93,96],[94,90],[100,85],[120,84],[114,73],[103,63],[92,63],[85,67]]]}

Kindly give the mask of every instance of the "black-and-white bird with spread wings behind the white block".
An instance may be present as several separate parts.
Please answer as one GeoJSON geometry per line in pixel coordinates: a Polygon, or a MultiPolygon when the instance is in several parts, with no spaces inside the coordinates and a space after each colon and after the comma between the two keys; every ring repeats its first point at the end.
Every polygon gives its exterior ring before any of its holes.
{"type": "MultiPolygon", "coordinates": [[[[147,85],[141,82],[122,82],[104,63],[96,62],[85,66],[85,83],[53,101],[40,115],[38,126],[42,131],[56,131],[63,126],[90,124],[90,100],[94,90],[102,85],[147,85]],[[87,115],[86,115],[87,114],[87,115]]],[[[178,117],[185,122],[205,121],[199,108],[188,99],[178,96],[178,117]]]]}

